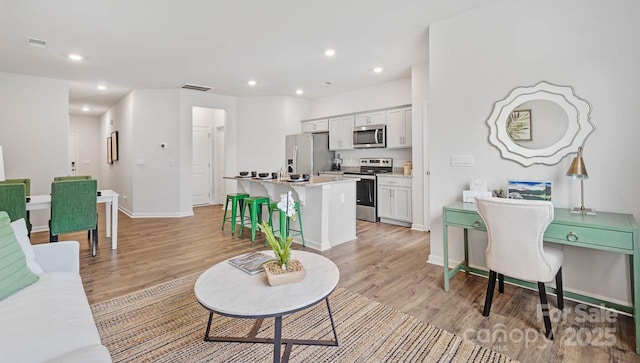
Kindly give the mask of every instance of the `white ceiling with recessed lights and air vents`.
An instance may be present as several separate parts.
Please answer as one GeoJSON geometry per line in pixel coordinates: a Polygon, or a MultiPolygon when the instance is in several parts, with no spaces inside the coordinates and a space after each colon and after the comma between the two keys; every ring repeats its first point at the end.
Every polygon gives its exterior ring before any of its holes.
{"type": "Polygon", "coordinates": [[[69,80],[72,114],[88,105],[100,115],[132,89],[184,83],[233,96],[302,88],[316,98],[408,77],[427,61],[429,24],[491,1],[0,0],[0,71],[69,80]]]}

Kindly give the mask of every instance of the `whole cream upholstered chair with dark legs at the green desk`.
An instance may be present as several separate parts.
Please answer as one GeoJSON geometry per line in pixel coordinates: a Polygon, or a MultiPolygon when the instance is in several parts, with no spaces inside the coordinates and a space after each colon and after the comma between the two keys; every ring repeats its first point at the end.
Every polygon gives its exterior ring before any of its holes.
{"type": "Polygon", "coordinates": [[[546,336],[553,339],[545,283],[556,280],[558,308],[562,296],[562,250],[543,245],[545,230],[553,221],[553,204],[545,201],[504,198],[477,198],[478,213],[486,227],[489,242],[485,250],[489,283],[484,316],[489,316],[498,274],[499,291],[504,292],[504,276],[538,283],[546,336]]]}

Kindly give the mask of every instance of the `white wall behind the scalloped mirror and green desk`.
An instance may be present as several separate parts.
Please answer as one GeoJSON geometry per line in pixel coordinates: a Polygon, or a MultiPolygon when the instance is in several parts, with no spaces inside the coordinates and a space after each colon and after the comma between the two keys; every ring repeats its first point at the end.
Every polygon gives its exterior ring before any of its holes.
{"type": "MultiPolygon", "coordinates": [[[[579,204],[579,183],[565,176],[570,159],[528,168],[503,160],[488,143],[485,124],[493,103],[514,87],[545,80],[574,87],[592,105],[596,131],[585,144],[590,178],[588,207],[640,216],[636,120],[640,2],[499,0],[430,27],[431,256],[442,261],[442,207],[461,200],[473,178],[504,187],[509,178],[553,182],[557,207],[579,204]],[[475,156],[475,165],[449,166],[452,154],[475,156]]],[[[484,265],[486,235],[470,233],[471,263],[484,265]]],[[[461,231],[449,234],[461,259],[461,231]]],[[[565,246],[567,290],[630,303],[628,259],[565,246]]]]}

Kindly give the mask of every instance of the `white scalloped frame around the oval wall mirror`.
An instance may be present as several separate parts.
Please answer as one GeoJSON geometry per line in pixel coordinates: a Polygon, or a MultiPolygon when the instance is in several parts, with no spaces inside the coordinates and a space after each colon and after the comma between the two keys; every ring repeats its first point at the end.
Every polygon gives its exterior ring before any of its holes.
{"type": "Polygon", "coordinates": [[[523,166],[533,164],[555,165],[565,156],[576,153],[595,130],[591,123],[591,105],[579,98],[570,86],[557,86],[540,82],[531,87],[514,88],[503,100],[497,101],[487,119],[489,143],[500,150],[503,159],[523,166]],[[516,144],[507,133],[507,117],[519,105],[533,100],[547,100],[564,109],[569,118],[565,134],[553,145],[529,149],[516,144]]]}

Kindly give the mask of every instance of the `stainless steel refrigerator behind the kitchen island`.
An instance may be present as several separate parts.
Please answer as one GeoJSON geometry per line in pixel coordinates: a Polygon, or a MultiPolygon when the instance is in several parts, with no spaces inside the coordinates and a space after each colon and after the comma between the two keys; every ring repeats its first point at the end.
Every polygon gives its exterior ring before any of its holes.
{"type": "Polygon", "coordinates": [[[285,150],[289,173],[318,175],[331,170],[334,152],[329,151],[328,132],[288,135],[285,150]]]}

